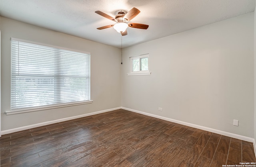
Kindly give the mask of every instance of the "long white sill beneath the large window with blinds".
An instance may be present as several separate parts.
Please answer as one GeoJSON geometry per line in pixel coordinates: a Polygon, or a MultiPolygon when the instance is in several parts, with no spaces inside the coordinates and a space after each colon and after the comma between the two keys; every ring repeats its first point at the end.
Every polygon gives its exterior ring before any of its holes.
{"type": "Polygon", "coordinates": [[[13,111],[6,111],[5,114],[12,115],[12,114],[21,114],[21,113],[25,113],[25,112],[40,111],[40,110],[50,110],[50,109],[54,109],[54,108],[63,108],[63,107],[70,107],[70,106],[78,106],[78,105],[82,105],[82,104],[91,104],[92,102],[93,101],[90,100],[90,101],[75,102],[75,103],[69,103],[69,104],[49,105],[49,106],[45,106],[45,107],[40,106],[40,108],[17,109],[17,110],[13,110],[13,111]]]}

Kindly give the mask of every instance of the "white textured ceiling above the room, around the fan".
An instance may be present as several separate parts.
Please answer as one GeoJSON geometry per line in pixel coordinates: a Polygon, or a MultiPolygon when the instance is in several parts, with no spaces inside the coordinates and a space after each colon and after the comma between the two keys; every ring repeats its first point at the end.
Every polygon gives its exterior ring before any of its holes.
{"type": "Polygon", "coordinates": [[[133,7],[141,12],[130,22],[149,28],[128,28],[123,47],[253,12],[255,0],[0,0],[0,16],[120,48],[120,33],[96,29],[115,22],[95,11],[133,7]]]}

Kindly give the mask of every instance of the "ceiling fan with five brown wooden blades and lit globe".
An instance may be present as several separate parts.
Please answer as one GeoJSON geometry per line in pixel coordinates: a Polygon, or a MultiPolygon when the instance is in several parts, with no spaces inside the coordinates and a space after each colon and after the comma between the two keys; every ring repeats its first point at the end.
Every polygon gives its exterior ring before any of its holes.
{"type": "Polygon", "coordinates": [[[122,36],[127,35],[126,28],[128,28],[128,27],[139,28],[139,29],[148,29],[148,25],[146,25],[146,24],[127,23],[140,13],[140,10],[138,10],[137,8],[132,8],[129,12],[126,12],[124,10],[118,10],[115,13],[116,14],[115,18],[113,18],[101,11],[95,11],[95,13],[99,14],[100,16],[103,16],[104,18],[107,18],[109,20],[116,22],[116,24],[99,27],[97,29],[105,29],[105,28],[114,27],[114,29],[116,29],[116,31],[121,33],[122,36]]]}

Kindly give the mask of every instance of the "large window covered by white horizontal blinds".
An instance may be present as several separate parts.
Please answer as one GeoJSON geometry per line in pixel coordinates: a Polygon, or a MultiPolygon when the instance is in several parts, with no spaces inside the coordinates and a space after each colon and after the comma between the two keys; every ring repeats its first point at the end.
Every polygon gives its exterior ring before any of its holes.
{"type": "Polygon", "coordinates": [[[11,112],[90,101],[90,54],[11,42],[11,112]]]}

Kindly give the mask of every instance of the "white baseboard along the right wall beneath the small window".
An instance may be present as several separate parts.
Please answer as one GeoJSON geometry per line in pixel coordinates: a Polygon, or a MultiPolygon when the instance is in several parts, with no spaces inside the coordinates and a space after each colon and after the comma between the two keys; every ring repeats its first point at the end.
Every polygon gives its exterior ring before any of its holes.
{"type": "Polygon", "coordinates": [[[240,140],[244,140],[244,141],[249,141],[249,142],[252,142],[254,144],[254,148],[255,148],[255,140],[254,140],[254,138],[249,138],[249,137],[241,136],[241,135],[238,135],[238,134],[232,134],[232,133],[224,132],[224,131],[221,131],[221,130],[207,128],[207,127],[204,127],[204,126],[200,126],[200,125],[196,125],[196,124],[191,124],[191,123],[188,123],[188,122],[182,122],[182,121],[179,121],[179,120],[174,120],[174,119],[166,118],[166,117],[163,117],[163,116],[149,114],[149,113],[146,113],[146,112],[142,112],[142,111],[138,111],[138,110],[133,110],[133,109],[130,109],[130,108],[125,108],[125,107],[121,107],[121,108],[124,109],[124,110],[131,111],[131,112],[136,112],[138,114],[142,114],[142,115],[146,115],[146,116],[151,116],[151,117],[154,117],[154,118],[159,118],[161,120],[166,120],[166,121],[174,122],[174,123],[177,123],[177,124],[182,124],[182,125],[185,125],[185,126],[190,126],[192,128],[197,128],[197,129],[205,130],[205,131],[208,131],[208,132],[213,132],[213,133],[216,133],[216,134],[228,136],[228,137],[231,137],[231,138],[236,138],[236,139],[240,139],[240,140]]]}

